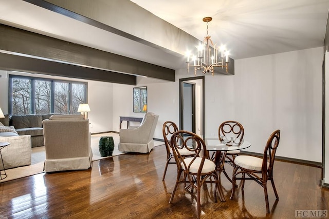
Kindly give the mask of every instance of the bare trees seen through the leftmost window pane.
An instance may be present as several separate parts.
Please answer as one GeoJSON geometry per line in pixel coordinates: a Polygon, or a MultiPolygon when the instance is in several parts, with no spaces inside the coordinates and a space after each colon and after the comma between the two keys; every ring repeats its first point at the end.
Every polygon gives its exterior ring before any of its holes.
{"type": "Polygon", "coordinates": [[[24,115],[31,112],[31,80],[14,78],[12,80],[12,114],[24,115]]]}

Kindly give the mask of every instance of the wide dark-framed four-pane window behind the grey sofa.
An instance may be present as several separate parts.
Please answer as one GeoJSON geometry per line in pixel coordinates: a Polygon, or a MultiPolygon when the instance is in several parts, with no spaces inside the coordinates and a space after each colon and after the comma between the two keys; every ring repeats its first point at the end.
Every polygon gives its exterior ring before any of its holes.
{"type": "Polygon", "coordinates": [[[79,114],[87,103],[87,83],[9,75],[9,113],[79,114]]]}

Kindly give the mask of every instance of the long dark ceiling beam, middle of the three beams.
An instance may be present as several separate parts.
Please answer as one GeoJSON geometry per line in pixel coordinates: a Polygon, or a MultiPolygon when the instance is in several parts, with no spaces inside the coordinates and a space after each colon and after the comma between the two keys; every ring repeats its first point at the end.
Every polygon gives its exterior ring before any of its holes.
{"type": "MultiPolygon", "coordinates": [[[[175,70],[0,24],[0,50],[88,68],[175,81],[175,70]]],[[[47,73],[47,72],[43,72],[47,73]]]]}

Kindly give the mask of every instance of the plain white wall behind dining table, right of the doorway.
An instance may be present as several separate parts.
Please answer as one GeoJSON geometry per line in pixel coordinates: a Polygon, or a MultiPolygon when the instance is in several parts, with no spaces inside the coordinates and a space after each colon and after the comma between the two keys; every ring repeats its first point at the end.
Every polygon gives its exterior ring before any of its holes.
{"type": "Polygon", "coordinates": [[[234,76],[206,77],[206,135],[225,120],[245,128],[247,150],[263,153],[281,130],[278,156],[321,162],[323,48],[235,61],[234,76]]]}

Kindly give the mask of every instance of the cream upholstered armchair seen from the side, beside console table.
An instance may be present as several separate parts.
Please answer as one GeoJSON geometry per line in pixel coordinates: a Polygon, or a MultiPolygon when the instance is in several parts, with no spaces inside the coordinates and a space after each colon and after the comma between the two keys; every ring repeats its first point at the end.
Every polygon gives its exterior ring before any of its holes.
{"type": "Polygon", "coordinates": [[[153,135],[159,115],[145,113],[139,127],[120,129],[119,151],[149,153],[154,148],[153,135]]]}

